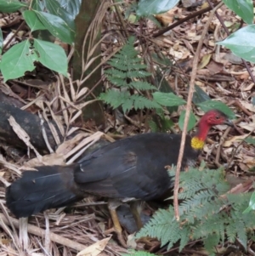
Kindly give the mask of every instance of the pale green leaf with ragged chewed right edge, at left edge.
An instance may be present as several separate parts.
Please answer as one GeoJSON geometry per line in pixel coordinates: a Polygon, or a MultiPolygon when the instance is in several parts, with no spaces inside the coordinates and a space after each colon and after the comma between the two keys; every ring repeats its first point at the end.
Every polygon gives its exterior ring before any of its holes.
{"type": "Polygon", "coordinates": [[[29,40],[15,44],[2,57],[0,68],[4,81],[22,77],[26,71],[33,71],[35,60],[38,60],[38,54],[31,48],[29,40]]]}

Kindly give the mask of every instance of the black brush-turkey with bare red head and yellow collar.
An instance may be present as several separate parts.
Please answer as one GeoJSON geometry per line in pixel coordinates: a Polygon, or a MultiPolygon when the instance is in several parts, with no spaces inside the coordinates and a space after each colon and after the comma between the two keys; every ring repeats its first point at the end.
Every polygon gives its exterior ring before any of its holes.
{"type": "MultiPolygon", "coordinates": [[[[218,124],[232,122],[218,110],[201,117],[197,133],[186,137],[182,168],[195,164],[209,129],[218,124]]],[[[119,241],[125,245],[114,200],[153,200],[173,188],[166,167],[177,164],[180,142],[180,134],[139,134],[105,145],[70,166],[24,171],[6,190],[7,207],[20,218],[67,206],[91,194],[105,196],[110,199],[109,209],[119,241]]]]}

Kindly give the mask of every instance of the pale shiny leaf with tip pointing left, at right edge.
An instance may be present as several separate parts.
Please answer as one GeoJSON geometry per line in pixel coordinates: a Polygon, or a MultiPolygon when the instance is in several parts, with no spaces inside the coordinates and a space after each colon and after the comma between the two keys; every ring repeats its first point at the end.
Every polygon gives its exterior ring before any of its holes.
{"type": "Polygon", "coordinates": [[[255,63],[255,25],[249,25],[227,37],[224,41],[218,42],[229,48],[235,55],[244,60],[255,63]]]}

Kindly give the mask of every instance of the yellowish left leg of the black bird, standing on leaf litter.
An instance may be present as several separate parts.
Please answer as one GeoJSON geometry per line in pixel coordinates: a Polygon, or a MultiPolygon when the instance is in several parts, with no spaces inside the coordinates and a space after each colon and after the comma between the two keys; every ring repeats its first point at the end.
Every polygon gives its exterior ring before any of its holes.
{"type": "Polygon", "coordinates": [[[124,241],[124,238],[122,236],[122,226],[120,224],[119,218],[116,213],[116,208],[118,208],[121,204],[122,204],[121,202],[116,202],[116,200],[109,200],[108,208],[111,214],[111,219],[112,219],[113,226],[116,231],[118,240],[122,244],[122,247],[127,248],[127,243],[124,241]]]}

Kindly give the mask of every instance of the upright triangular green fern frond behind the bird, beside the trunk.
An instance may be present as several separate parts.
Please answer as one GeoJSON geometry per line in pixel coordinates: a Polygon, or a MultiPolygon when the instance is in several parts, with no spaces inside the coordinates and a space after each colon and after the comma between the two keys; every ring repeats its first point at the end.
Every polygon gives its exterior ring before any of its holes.
{"type": "Polygon", "coordinates": [[[113,89],[109,89],[105,94],[101,94],[99,99],[104,100],[113,108],[122,106],[124,112],[133,108],[135,110],[161,108],[156,100],[153,100],[153,98],[152,100],[147,99],[142,95],[143,91],[156,90],[156,87],[142,80],[149,77],[150,72],[146,71],[147,65],[141,63],[138,52],[133,48],[133,43],[134,37],[130,37],[120,52],[108,61],[111,69],[105,71],[108,81],[116,88],[125,89],[125,93],[117,94],[116,91],[112,92],[113,89]],[[128,91],[130,88],[137,94],[131,95],[128,91]]]}

